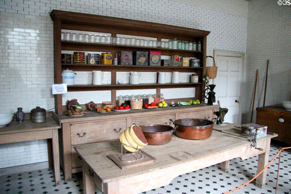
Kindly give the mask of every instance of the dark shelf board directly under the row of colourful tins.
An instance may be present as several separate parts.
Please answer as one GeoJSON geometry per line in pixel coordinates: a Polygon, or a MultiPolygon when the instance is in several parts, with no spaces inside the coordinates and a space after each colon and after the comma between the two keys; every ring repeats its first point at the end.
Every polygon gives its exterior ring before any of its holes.
{"type": "Polygon", "coordinates": [[[96,65],[96,64],[62,64],[62,70],[73,71],[178,71],[194,72],[202,71],[203,67],[183,67],[183,66],[141,66],[141,65],[96,65]]]}

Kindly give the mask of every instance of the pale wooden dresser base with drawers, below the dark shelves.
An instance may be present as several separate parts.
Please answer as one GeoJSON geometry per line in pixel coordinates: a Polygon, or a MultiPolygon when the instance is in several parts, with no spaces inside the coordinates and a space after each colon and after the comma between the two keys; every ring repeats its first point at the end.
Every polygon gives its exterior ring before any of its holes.
{"type": "Polygon", "coordinates": [[[119,134],[131,126],[148,124],[172,125],[170,119],[180,118],[216,118],[213,112],[218,106],[206,104],[181,107],[165,107],[156,109],[130,110],[121,113],[94,113],[87,111],[84,116],[59,115],[62,123],[60,136],[61,165],[65,180],[71,179],[71,174],[81,172],[82,160],[78,157],[74,146],[116,140],[119,134]]]}

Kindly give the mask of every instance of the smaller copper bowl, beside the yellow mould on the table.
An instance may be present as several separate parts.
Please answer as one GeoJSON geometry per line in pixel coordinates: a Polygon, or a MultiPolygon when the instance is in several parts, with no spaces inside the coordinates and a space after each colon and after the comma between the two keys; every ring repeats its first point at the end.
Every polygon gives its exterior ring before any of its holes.
{"type": "Polygon", "coordinates": [[[163,145],[171,141],[173,127],[168,125],[141,125],[148,145],[163,145]]]}

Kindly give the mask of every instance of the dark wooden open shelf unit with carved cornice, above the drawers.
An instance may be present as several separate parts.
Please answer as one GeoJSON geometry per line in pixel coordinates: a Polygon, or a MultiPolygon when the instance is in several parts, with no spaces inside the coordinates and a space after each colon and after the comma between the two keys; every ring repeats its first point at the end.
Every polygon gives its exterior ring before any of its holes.
{"type": "MultiPolygon", "coordinates": [[[[68,87],[68,91],[92,91],[92,90],[111,90],[111,101],[116,101],[116,90],[124,89],[156,89],[156,93],[160,93],[161,88],[177,88],[177,87],[195,87],[195,98],[201,102],[204,101],[204,83],[202,78],[206,74],[206,40],[208,31],[196,30],[191,28],[183,28],[165,24],[138,21],[132,19],[124,19],[109,16],[97,16],[91,14],[82,14],[75,12],[66,12],[53,10],[50,13],[53,20],[54,35],[54,83],[62,83],[62,70],[69,68],[74,71],[111,71],[111,85],[91,86],[77,85],[68,87]],[[164,49],[151,47],[137,47],[128,45],[98,44],[70,42],[61,40],[61,30],[77,30],[84,32],[102,32],[110,33],[112,37],[117,34],[134,35],[143,37],[162,39],[177,38],[182,41],[201,41],[202,51],[181,50],[181,49],[164,49]],[[113,56],[121,50],[129,51],[150,51],[159,50],[162,55],[176,55],[184,57],[196,57],[201,60],[201,67],[164,67],[164,66],[135,66],[135,65],[79,65],[79,64],[62,64],[62,50],[71,51],[96,51],[111,52],[113,56]],[[118,71],[165,71],[165,72],[195,72],[199,75],[199,83],[179,83],[179,84],[139,84],[139,85],[117,85],[116,72],[118,71]]],[[[55,95],[55,112],[62,114],[62,95],[55,95]]]]}

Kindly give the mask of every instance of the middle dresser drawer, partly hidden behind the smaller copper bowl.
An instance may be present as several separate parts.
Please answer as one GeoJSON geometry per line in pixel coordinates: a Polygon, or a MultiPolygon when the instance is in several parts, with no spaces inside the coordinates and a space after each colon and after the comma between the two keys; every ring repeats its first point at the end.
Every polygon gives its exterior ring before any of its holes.
{"type": "Polygon", "coordinates": [[[175,113],[135,117],[131,119],[131,122],[136,125],[150,125],[150,124],[168,125],[170,123],[170,119],[175,120],[175,113]]]}

